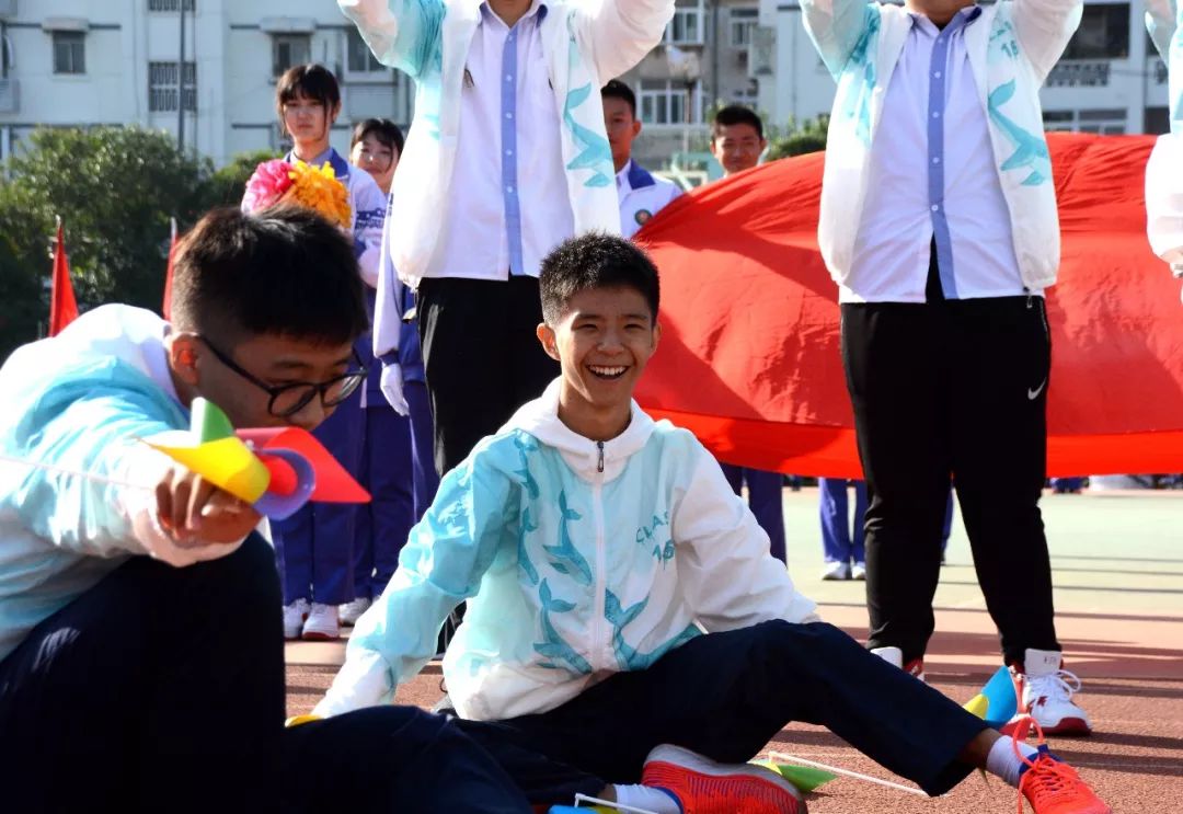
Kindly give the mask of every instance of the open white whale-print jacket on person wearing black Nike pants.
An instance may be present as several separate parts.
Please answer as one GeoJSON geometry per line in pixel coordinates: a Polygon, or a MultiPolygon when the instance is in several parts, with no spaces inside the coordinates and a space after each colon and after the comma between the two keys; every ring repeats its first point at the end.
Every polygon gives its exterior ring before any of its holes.
{"type": "MultiPolygon", "coordinates": [[[[912,20],[903,6],[802,0],[806,30],[838,82],[829,122],[817,241],[835,282],[847,279],[867,198],[871,150],[912,20]]],[[[1080,25],[1084,0],[1001,0],[965,33],[990,123],[998,181],[1023,285],[1055,283],[1060,221],[1043,136],[1040,85],[1080,25]]]]}

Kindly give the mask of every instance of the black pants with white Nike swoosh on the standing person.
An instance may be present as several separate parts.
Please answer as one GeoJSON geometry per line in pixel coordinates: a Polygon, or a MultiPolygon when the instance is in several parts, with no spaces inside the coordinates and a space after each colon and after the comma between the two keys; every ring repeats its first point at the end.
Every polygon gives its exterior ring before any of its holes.
{"type": "Polygon", "coordinates": [[[1042,297],[842,305],[866,473],[870,647],[924,655],[952,477],[1008,664],[1060,650],[1039,499],[1052,347],[1042,297]]]}

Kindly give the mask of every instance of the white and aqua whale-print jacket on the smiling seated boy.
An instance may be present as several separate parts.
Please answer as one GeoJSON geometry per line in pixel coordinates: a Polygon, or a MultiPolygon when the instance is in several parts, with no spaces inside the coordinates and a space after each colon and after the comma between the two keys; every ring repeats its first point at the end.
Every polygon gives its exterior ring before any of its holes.
{"type": "Polygon", "coordinates": [[[474,719],[554,709],[703,631],[815,618],[690,432],[634,403],[601,444],[557,411],[558,381],[444,478],[317,713],[389,702],[464,600],[444,674],[474,719]]]}

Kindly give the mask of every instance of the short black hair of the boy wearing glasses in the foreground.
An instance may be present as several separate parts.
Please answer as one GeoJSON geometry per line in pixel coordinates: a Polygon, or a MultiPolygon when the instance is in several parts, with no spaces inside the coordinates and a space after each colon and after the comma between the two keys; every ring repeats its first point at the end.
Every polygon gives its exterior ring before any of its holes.
{"type": "Polygon", "coordinates": [[[257,335],[344,344],[369,327],[353,245],[293,206],[202,218],[176,247],[172,322],[230,347],[257,335]]]}

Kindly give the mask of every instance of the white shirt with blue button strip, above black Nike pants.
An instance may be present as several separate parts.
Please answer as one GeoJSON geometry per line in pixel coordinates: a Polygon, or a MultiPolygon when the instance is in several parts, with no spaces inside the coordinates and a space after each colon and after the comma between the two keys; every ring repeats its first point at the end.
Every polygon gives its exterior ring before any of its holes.
{"type": "Polygon", "coordinates": [[[866,208],[839,302],[925,302],[936,245],[948,299],[1008,297],[1023,289],[989,122],[965,47],[982,9],[943,28],[923,14],[887,86],[871,150],[866,208]]]}

